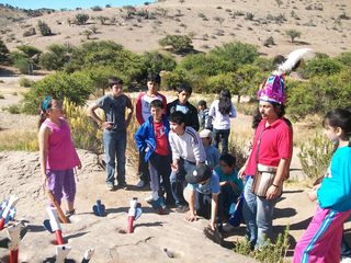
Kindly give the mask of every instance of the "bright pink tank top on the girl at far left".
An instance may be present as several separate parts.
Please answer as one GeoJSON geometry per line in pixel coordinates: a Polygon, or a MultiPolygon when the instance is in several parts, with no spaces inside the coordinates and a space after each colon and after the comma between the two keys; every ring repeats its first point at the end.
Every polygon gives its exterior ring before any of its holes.
{"type": "Polygon", "coordinates": [[[46,168],[52,170],[67,170],[79,164],[79,158],[70,137],[67,122],[60,118],[61,125],[45,119],[43,125],[50,128],[48,136],[48,155],[46,168]]]}

